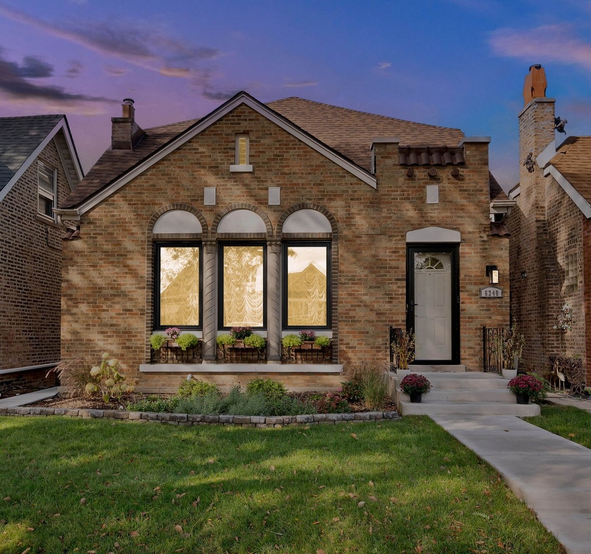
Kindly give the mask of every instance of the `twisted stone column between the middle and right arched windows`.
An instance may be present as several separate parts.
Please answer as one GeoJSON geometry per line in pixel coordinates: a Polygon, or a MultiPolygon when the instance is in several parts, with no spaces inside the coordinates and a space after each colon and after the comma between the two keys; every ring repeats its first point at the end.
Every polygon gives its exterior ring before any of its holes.
{"type": "Polygon", "coordinates": [[[267,359],[281,359],[281,241],[267,242],[267,359]]]}

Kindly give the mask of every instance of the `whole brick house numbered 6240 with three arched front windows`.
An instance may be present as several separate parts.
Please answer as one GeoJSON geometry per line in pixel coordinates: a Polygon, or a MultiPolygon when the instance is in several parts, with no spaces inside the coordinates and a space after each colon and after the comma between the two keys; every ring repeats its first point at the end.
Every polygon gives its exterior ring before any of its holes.
{"type": "Polygon", "coordinates": [[[482,369],[482,327],[509,320],[511,202],[488,138],[243,92],[144,131],[124,102],[112,148],[59,210],[80,223],[64,245],[63,358],[110,352],[145,390],[189,371],[334,385],[347,362],[388,362],[390,328],[404,328],[417,363],[482,369]],[[487,266],[502,296],[479,297],[487,266]],[[220,363],[216,336],[245,323],[266,362],[220,363]],[[168,326],[203,339],[203,364],[150,364],[168,326]],[[282,360],[282,336],[307,328],[332,339],[332,363],[282,360]]]}

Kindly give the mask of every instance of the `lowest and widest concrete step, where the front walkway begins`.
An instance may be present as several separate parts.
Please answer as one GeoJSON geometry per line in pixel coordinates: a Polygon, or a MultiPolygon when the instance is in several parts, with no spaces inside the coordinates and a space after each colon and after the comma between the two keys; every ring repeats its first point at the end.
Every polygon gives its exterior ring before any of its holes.
{"type": "Polygon", "coordinates": [[[540,415],[538,404],[517,404],[509,402],[421,402],[397,403],[402,416],[518,416],[531,417],[540,415]]]}

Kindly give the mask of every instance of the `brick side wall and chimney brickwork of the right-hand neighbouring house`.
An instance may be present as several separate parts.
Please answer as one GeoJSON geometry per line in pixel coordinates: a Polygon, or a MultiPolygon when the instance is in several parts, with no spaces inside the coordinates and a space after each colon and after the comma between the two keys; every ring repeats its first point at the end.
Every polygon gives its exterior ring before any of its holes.
{"type": "MultiPolygon", "coordinates": [[[[554,140],[554,101],[534,99],[519,118],[519,152],[539,155],[554,140]]],[[[584,216],[554,177],[521,166],[520,195],[509,216],[511,315],[525,335],[525,370],[545,374],[549,356],[586,361],[584,216]],[[568,279],[569,265],[577,276],[568,279]],[[521,272],[527,271],[527,279],[521,272]],[[573,308],[573,331],[553,329],[564,303],[573,308]]],[[[589,252],[591,254],[591,252],[589,252]]]]}

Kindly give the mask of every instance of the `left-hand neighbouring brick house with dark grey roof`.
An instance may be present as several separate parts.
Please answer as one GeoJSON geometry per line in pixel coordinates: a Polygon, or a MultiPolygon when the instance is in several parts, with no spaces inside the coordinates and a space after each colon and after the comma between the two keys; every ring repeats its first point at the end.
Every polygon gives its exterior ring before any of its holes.
{"type": "MultiPolygon", "coordinates": [[[[82,179],[64,115],[0,118],[0,378],[60,361],[61,248],[53,209],[82,179]]],[[[70,233],[72,235],[72,233],[70,233]]],[[[11,377],[9,377],[11,375],[11,377]]]]}

